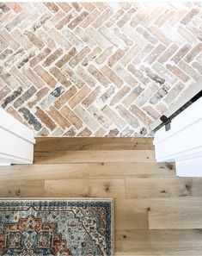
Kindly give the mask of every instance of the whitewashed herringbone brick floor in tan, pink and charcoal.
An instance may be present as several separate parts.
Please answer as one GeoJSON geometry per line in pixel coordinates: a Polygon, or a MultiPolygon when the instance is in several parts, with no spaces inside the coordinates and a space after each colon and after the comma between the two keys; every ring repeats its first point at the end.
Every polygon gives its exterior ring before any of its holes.
{"type": "Polygon", "coordinates": [[[36,135],[150,135],[201,75],[201,3],[0,3],[0,104],[36,135]]]}

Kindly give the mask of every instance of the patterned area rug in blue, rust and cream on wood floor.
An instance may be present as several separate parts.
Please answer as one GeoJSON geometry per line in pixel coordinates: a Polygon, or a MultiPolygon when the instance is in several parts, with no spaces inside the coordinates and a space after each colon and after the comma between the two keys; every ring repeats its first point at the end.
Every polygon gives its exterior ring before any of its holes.
{"type": "Polygon", "coordinates": [[[0,255],[113,255],[113,200],[0,200],[0,255]]]}

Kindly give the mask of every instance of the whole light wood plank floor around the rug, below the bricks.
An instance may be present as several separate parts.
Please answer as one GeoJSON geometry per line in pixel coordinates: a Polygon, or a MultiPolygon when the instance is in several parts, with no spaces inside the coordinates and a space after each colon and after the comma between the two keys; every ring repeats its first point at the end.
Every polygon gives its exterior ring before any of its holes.
{"type": "Polygon", "coordinates": [[[202,178],[156,164],[151,138],[37,138],[34,165],[0,167],[0,196],[113,197],[115,255],[202,255],[202,178]]]}

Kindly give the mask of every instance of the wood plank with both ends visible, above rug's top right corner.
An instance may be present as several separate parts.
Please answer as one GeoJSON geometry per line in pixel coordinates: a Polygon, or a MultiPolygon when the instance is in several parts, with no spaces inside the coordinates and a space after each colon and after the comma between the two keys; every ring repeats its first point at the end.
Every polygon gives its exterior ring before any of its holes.
{"type": "Polygon", "coordinates": [[[124,179],[46,180],[46,197],[125,198],[124,179]]]}

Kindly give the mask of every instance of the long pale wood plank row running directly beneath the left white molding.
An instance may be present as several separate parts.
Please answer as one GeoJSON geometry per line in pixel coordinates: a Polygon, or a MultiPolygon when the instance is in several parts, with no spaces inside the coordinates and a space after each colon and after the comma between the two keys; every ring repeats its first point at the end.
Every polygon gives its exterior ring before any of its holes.
{"type": "Polygon", "coordinates": [[[156,163],[72,163],[1,166],[3,179],[175,178],[174,166],[156,163]]]}

